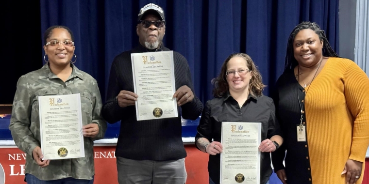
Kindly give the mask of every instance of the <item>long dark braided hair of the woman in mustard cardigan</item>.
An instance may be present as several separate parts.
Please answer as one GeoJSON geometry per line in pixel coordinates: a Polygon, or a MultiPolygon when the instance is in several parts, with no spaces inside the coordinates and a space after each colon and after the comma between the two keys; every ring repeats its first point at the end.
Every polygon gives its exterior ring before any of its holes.
{"type": "Polygon", "coordinates": [[[323,42],[323,49],[322,49],[323,56],[339,57],[338,54],[335,53],[335,51],[332,49],[331,45],[329,44],[324,31],[320,29],[317,23],[302,22],[292,30],[292,32],[290,33],[288,37],[287,51],[285,55],[285,70],[292,69],[298,65],[298,62],[296,61],[295,56],[293,55],[293,41],[295,39],[296,34],[299,33],[301,30],[305,30],[305,29],[313,30],[316,34],[318,34],[320,42],[323,42]]]}

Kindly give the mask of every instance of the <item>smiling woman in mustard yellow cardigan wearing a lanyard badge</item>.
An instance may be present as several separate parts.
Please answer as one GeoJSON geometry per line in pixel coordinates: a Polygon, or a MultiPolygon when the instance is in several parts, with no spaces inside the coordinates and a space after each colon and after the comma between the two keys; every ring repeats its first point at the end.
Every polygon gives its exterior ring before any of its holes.
{"type": "Polygon", "coordinates": [[[274,97],[285,142],[272,162],[282,183],[361,184],[368,89],[368,76],[333,51],[316,23],[294,28],[274,97]]]}

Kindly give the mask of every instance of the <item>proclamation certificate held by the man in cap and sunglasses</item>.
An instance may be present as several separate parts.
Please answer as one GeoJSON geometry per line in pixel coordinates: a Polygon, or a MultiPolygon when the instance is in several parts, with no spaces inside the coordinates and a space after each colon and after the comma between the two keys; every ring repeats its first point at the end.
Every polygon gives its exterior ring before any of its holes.
{"type": "Polygon", "coordinates": [[[137,121],[178,117],[173,51],[131,54],[137,121]]]}

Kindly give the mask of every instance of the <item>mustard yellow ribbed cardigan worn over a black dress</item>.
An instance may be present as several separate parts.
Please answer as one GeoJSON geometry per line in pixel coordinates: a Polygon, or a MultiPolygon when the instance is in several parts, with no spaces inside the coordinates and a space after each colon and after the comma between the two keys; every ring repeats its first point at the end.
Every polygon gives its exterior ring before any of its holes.
{"type": "Polygon", "coordinates": [[[369,145],[369,78],[353,61],[329,58],[305,96],[314,184],[346,184],[347,159],[363,162],[369,145]]]}

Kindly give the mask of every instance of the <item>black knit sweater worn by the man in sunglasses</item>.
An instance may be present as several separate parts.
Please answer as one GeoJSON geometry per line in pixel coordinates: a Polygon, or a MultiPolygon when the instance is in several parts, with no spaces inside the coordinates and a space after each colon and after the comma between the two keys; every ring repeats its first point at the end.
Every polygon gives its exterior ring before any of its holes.
{"type": "MultiPolygon", "coordinates": [[[[161,50],[169,49],[162,46],[161,50]]],[[[184,119],[195,120],[202,111],[202,103],[196,97],[178,108],[178,118],[137,121],[134,106],[119,107],[116,96],[121,90],[134,92],[131,53],[150,52],[143,46],[117,55],[112,63],[106,103],[102,116],[109,123],[121,120],[116,156],[134,160],[176,160],[186,156],[182,141],[181,112],[184,119]]],[[[194,92],[187,60],[173,51],[176,90],[188,86],[194,92]]]]}

